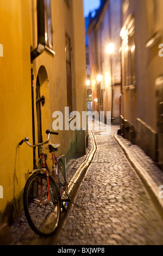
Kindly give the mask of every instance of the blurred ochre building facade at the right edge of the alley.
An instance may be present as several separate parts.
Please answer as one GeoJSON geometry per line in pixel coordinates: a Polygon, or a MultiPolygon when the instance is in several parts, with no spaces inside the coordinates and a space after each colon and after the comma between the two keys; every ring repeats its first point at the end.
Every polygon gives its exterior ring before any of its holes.
{"type": "Polygon", "coordinates": [[[124,0],[122,7],[122,135],[163,163],[161,0],[124,0]],[[159,56],[160,55],[160,56],[159,56]]]}

